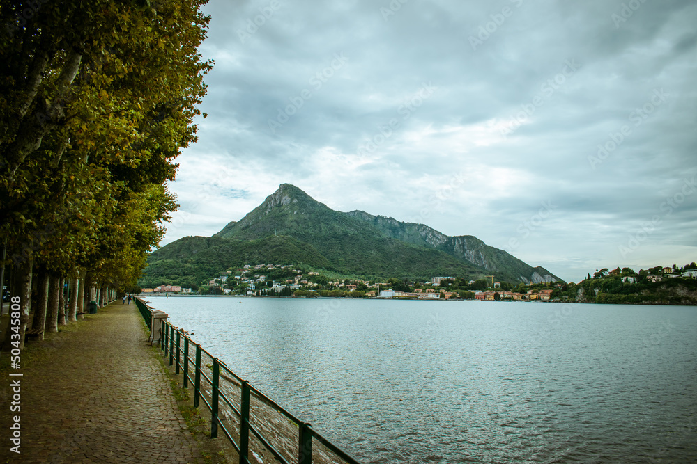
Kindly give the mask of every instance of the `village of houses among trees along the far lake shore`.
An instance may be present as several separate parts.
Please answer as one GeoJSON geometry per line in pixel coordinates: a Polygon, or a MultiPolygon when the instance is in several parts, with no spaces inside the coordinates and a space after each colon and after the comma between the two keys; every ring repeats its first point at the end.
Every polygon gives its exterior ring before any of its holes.
{"type": "MultiPolygon", "coordinates": [[[[676,266],[643,269],[601,269],[593,278],[615,278],[626,285],[642,282],[661,282],[668,278],[697,279],[697,269],[677,269],[676,266]]],[[[319,272],[303,271],[283,264],[257,264],[228,269],[199,287],[160,285],[141,289],[142,294],[213,294],[236,296],[294,296],[402,299],[467,299],[481,301],[551,301],[555,289],[566,290],[565,282],[528,282],[517,285],[487,279],[466,280],[456,277],[434,277],[430,282],[409,282],[390,278],[387,282],[369,280],[332,280],[319,272]]],[[[590,280],[590,273],[588,280],[590,280]]],[[[573,285],[573,284],[571,284],[573,285]]]]}

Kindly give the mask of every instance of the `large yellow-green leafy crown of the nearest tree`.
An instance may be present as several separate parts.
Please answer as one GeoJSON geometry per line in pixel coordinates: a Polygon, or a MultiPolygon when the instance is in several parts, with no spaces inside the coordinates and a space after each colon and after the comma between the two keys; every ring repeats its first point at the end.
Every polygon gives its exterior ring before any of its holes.
{"type": "MultiPolygon", "coordinates": [[[[208,23],[200,5],[66,1],[3,37],[0,223],[31,224],[22,205],[36,197],[29,180],[42,166],[68,175],[75,161],[101,161],[129,186],[174,178],[168,160],[195,140],[194,105],[210,68],[196,50],[208,23]]],[[[3,8],[3,24],[22,8],[3,8]]]]}

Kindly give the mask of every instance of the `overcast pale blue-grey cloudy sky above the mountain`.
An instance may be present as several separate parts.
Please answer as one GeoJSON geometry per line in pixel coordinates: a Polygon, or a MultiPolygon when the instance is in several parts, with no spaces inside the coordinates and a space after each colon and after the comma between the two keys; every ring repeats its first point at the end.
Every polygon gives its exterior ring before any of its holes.
{"type": "Polygon", "coordinates": [[[694,0],[211,0],[169,243],[284,182],[578,282],[697,261],[694,0]]]}

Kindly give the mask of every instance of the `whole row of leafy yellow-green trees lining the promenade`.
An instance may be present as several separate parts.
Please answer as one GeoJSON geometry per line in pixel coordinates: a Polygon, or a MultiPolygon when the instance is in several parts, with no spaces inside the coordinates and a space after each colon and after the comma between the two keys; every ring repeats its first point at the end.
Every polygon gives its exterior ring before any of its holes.
{"type": "Polygon", "coordinates": [[[61,282],[78,301],[102,289],[105,303],[162,239],[177,207],[164,183],[196,140],[212,65],[198,52],[204,3],[1,3],[1,264],[22,342],[32,301],[31,328],[57,330],[61,282]]]}

